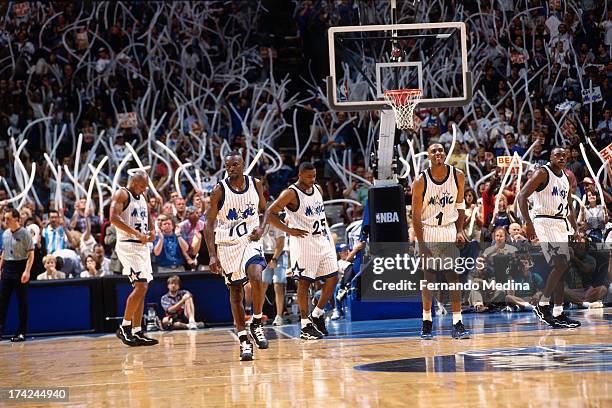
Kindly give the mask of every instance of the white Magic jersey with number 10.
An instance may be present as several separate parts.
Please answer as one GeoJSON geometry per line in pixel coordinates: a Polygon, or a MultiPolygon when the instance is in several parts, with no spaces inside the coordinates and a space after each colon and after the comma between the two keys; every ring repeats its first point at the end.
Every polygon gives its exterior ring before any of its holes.
{"type": "Polygon", "coordinates": [[[217,213],[215,243],[233,243],[259,227],[259,193],[251,176],[244,176],[242,191],[234,190],[229,178],[219,184],[223,189],[223,201],[217,213]]]}

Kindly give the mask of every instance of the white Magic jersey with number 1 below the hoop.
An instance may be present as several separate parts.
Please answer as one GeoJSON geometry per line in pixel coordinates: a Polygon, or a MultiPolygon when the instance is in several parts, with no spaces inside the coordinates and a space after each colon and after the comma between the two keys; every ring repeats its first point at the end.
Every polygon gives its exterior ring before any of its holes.
{"type": "Polygon", "coordinates": [[[421,173],[425,181],[421,211],[424,225],[433,227],[449,225],[459,218],[459,211],[455,208],[459,192],[456,170],[453,166],[445,165],[445,167],[448,173],[441,182],[433,179],[431,169],[421,173]]]}

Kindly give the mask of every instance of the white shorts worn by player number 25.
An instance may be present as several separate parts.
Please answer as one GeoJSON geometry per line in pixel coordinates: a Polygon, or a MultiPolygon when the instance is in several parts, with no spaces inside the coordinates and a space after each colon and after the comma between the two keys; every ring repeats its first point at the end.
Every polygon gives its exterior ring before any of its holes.
{"type": "Polygon", "coordinates": [[[338,276],[336,251],[325,236],[289,238],[290,268],[294,276],[314,282],[338,276]]]}

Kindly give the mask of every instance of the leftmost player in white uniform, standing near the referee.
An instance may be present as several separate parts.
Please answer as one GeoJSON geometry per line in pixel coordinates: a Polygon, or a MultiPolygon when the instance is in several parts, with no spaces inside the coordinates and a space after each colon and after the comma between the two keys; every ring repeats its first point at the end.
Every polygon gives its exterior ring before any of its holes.
{"type": "Polygon", "coordinates": [[[159,343],[144,335],[140,324],[144,312],[144,298],[153,280],[151,254],[147,243],[155,239],[155,228],[145,195],[148,178],[144,171],[134,173],[127,188],[115,191],[110,206],[110,222],[117,229],[115,249],[123,274],[134,289],[127,298],[123,322],[117,337],[128,346],[153,346],[159,343]],[[132,327],[134,326],[134,327],[132,327]]]}

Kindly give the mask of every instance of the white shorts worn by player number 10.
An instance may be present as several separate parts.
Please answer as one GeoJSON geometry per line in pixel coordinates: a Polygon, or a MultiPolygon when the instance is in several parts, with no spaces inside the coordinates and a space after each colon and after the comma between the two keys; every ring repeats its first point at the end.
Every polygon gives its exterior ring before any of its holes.
{"type": "Polygon", "coordinates": [[[267,266],[261,242],[251,241],[248,237],[232,245],[217,244],[217,255],[227,285],[246,284],[249,265],[261,265],[264,269],[267,266]]]}

